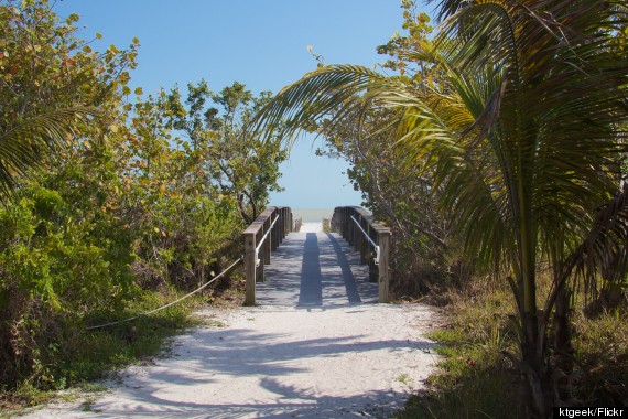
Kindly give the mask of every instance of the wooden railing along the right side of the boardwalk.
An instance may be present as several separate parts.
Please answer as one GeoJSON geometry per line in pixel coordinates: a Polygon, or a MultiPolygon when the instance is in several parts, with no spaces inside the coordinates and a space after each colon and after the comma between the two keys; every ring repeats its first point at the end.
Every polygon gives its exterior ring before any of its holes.
{"type": "Polygon", "coordinates": [[[373,216],[359,206],[336,207],[331,228],[359,251],[360,262],[369,265],[371,282],[378,282],[379,302],[388,302],[390,228],[376,223],[373,216]]]}

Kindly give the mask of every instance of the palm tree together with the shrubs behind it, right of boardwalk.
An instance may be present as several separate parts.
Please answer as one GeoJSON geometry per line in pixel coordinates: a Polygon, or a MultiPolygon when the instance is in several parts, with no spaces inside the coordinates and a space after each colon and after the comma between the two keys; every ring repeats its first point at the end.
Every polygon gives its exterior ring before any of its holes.
{"type": "MultiPolygon", "coordinates": [[[[618,310],[628,287],[628,10],[445,0],[431,40],[426,17],[402,3],[409,35],[381,47],[397,75],[322,65],[255,127],[329,138],[402,233],[398,272],[427,273],[419,289],[472,272],[504,281],[517,399],[527,417],[548,417],[582,402],[574,318],[618,310]]],[[[626,388],[614,391],[624,402],[626,388]]]]}

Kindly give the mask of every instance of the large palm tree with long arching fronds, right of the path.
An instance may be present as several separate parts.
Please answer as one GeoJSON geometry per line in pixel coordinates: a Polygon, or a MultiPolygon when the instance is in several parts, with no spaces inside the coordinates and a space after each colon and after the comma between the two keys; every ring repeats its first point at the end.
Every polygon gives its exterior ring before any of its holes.
{"type": "Polygon", "coordinates": [[[546,417],[560,398],[548,347],[569,356],[565,327],[560,342],[548,342],[552,321],[565,325],[569,282],[578,272],[626,272],[618,168],[627,151],[627,9],[620,1],[445,0],[442,13],[434,47],[408,57],[438,66],[434,87],[323,67],[281,90],[251,129],[268,136],[285,121],[281,135],[292,141],[322,117],[333,123],[360,108],[397,110],[398,142],[433,173],[467,251],[511,283],[530,415],[546,417]],[[541,261],[553,268],[543,310],[541,261]]]}

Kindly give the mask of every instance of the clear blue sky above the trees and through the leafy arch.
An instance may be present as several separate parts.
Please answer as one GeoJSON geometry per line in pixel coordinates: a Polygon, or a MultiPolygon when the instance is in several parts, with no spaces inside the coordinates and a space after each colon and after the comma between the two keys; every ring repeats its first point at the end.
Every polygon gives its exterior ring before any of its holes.
{"type": "MultiPolygon", "coordinates": [[[[51,3],[54,0],[51,0],[51,3]]],[[[80,36],[126,47],[140,40],[131,86],[144,94],[182,88],[205,78],[213,90],[238,80],[255,94],[278,92],[316,67],[312,45],[326,64],[372,66],[377,45],[401,30],[400,0],[63,0],[54,10],[80,15],[80,36]]],[[[344,162],[314,155],[312,138],[281,166],[285,192],[271,204],[292,207],[356,205],[344,162]]]]}

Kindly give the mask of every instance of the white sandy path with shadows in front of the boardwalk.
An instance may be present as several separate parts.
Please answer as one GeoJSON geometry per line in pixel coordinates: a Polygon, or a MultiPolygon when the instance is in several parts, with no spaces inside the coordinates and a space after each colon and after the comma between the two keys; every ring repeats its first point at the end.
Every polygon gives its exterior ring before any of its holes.
{"type": "Polygon", "coordinates": [[[177,336],[110,390],[26,418],[388,417],[434,364],[424,305],[206,311],[224,326],[177,336]]]}

